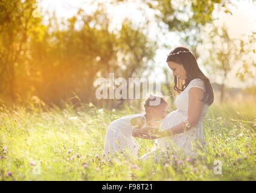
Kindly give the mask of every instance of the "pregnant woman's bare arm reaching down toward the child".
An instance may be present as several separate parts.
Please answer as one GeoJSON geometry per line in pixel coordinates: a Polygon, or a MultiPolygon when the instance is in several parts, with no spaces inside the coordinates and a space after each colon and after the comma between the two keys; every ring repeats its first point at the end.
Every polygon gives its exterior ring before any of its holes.
{"type": "Polygon", "coordinates": [[[188,92],[188,119],[167,130],[159,131],[157,134],[160,136],[160,138],[184,133],[184,130],[190,130],[197,124],[200,118],[200,114],[202,112],[203,94],[204,91],[202,89],[199,89],[197,87],[191,87],[188,92]]]}

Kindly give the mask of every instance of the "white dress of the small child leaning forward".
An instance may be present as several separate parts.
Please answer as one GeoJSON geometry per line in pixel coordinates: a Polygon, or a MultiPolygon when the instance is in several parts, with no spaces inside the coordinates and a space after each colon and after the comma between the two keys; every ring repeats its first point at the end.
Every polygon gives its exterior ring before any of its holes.
{"type": "Polygon", "coordinates": [[[123,116],[110,123],[106,132],[104,153],[107,153],[108,151],[115,153],[129,150],[130,154],[138,157],[139,144],[132,136],[133,127],[130,124],[130,120],[139,116],[145,119],[142,128],[146,127],[146,117],[141,113],[123,116]]]}

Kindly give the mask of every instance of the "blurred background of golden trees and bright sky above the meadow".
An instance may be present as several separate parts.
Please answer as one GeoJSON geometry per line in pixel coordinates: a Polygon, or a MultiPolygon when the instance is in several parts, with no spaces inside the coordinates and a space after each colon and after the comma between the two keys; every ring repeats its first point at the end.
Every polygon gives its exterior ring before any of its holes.
{"type": "Polygon", "coordinates": [[[174,105],[165,60],[179,45],[210,78],[215,103],[255,103],[255,10],[254,0],[2,0],[0,104],[139,106],[97,100],[95,81],[114,72],[161,82],[174,105]]]}

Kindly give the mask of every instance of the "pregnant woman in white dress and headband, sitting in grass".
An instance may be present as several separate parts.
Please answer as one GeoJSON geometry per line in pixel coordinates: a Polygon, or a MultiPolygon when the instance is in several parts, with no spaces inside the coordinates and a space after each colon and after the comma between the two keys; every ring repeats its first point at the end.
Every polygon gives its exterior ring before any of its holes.
{"type": "MultiPolygon", "coordinates": [[[[178,93],[175,103],[178,109],[169,113],[159,131],[148,137],[156,139],[156,145],[142,159],[155,155],[156,150],[165,153],[175,151],[186,157],[193,157],[196,153],[193,147],[196,143],[203,143],[203,118],[214,100],[213,87],[200,71],[189,49],[182,46],[174,48],[167,57],[167,63],[173,72],[174,91],[178,93]]],[[[145,134],[144,131],[137,130],[134,136],[145,134]]]]}

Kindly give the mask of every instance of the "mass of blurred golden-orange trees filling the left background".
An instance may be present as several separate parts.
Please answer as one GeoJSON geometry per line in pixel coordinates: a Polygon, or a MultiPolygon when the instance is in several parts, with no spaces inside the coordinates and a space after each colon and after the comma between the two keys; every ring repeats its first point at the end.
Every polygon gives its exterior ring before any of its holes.
{"type": "Polygon", "coordinates": [[[92,14],[80,9],[67,21],[59,22],[53,15],[43,25],[40,17],[33,16],[35,3],[16,0],[0,4],[4,101],[25,103],[36,95],[46,104],[60,106],[75,93],[85,103],[102,106],[102,101],[95,101],[98,77],[108,78],[109,72],[134,77],[150,69],[147,63],[153,60],[156,43],[149,40],[142,25],[126,19],[121,29],[110,30],[104,4],[98,4],[92,14]]]}

